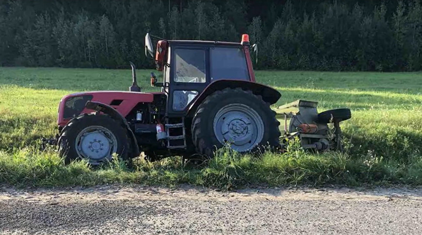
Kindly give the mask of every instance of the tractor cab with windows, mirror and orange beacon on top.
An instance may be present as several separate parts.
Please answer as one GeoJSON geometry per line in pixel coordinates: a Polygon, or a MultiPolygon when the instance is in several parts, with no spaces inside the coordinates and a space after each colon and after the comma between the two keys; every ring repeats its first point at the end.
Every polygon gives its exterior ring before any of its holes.
{"type": "Polygon", "coordinates": [[[240,43],[159,40],[154,57],[148,33],[145,42],[146,56],[163,72],[160,83],[152,73],[151,86],[162,87],[168,94],[170,116],[185,115],[189,105],[219,80],[255,82],[246,34],[240,43]]]}

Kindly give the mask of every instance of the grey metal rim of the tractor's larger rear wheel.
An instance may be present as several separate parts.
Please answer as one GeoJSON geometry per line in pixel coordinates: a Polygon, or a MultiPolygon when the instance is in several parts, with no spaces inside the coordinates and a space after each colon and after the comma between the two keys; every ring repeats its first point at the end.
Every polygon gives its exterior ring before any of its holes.
{"type": "Polygon", "coordinates": [[[239,152],[252,150],[264,136],[264,123],[251,107],[233,103],[222,107],[214,117],[214,133],[221,144],[228,142],[239,152]]]}

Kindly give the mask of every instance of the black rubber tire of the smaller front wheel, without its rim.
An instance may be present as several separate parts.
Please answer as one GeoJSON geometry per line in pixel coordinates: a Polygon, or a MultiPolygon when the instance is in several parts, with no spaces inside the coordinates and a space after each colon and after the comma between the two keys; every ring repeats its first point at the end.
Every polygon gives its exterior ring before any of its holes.
{"type": "MultiPolygon", "coordinates": [[[[90,126],[99,126],[113,133],[115,140],[117,141],[115,153],[123,160],[128,159],[128,156],[130,156],[130,140],[126,128],[108,115],[92,113],[81,114],[80,116],[71,119],[60,132],[58,140],[59,155],[65,159],[66,164],[81,159],[81,151],[76,149],[76,146],[78,145],[78,143],[76,143],[77,136],[80,132],[90,126]]],[[[111,160],[111,158],[112,155],[110,154],[102,159],[87,160],[91,165],[98,165],[102,162],[111,160]]]]}

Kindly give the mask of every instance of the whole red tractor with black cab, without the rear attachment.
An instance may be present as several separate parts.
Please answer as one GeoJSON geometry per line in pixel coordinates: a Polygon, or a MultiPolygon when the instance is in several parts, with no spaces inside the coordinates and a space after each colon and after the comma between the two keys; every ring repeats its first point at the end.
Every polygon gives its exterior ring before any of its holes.
{"type": "MultiPolygon", "coordinates": [[[[146,55],[153,57],[149,34],[146,55]]],[[[278,147],[280,131],[270,108],[280,93],[255,82],[248,35],[241,43],[160,40],[155,60],[163,71],[141,92],[132,66],[130,91],[66,95],[60,102],[57,144],[66,162],[97,165],[115,153],[149,160],[195,154],[212,157],[226,143],[239,152],[278,147]]]]}

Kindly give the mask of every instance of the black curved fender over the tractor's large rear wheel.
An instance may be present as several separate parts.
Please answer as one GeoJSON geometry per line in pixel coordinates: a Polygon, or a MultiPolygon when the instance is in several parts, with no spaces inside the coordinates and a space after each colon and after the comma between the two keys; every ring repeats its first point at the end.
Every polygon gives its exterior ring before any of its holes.
{"type": "Polygon", "coordinates": [[[276,103],[281,97],[280,92],[278,92],[276,89],[259,83],[244,80],[217,80],[208,85],[208,87],[205,88],[204,91],[202,91],[202,93],[198,96],[195,102],[191,104],[188,109],[187,116],[193,117],[199,104],[201,104],[205,98],[207,98],[213,92],[222,90],[224,88],[242,88],[243,90],[250,90],[255,95],[260,95],[262,100],[270,104],[276,103]]]}

